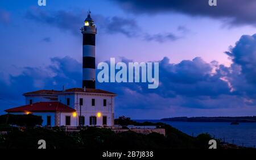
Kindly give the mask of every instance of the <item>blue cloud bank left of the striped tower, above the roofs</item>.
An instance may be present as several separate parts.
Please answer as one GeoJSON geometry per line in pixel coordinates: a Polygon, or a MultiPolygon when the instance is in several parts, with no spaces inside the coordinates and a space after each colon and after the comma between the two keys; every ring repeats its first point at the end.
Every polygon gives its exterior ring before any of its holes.
{"type": "Polygon", "coordinates": [[[46,67],[26,67],[18,75],[5,78],[0,73],[1,111],[24,104],[24,92],[49,89],[61,90],[63,85],[74,87],[81,85],[82,65],[71,57],[51,58],[46,67]],[[8,81],[6,81],[6,79],[8,81]]]}

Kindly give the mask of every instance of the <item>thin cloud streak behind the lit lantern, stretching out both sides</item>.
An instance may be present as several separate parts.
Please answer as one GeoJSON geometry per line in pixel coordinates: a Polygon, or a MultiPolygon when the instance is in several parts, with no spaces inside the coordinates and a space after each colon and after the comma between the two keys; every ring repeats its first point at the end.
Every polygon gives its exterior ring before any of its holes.
{"type": "MultiPolygon", "coordinates": [[[[76,36],[81,36],[79,28],[82,27],[82,22],[84,22],[86,15],[84,11],[78,13],[64,10],[46,12],[37,7],[32,7],[27,11],[26,18],[71,32],[76,36]]],[[[175,41],[180,38],[174,35],[174,33],[158,33],[155,35],[139,33],[138,31],[141,31],[141,28],[138,26],[137,21],[132,18],[107,17],[96,14],[93,15],[93,19],[96,21],[97,28],[106,34],[121,34],[129,38],[137,37],[146,41],[158,41],[159,43],[175,41]]]]}

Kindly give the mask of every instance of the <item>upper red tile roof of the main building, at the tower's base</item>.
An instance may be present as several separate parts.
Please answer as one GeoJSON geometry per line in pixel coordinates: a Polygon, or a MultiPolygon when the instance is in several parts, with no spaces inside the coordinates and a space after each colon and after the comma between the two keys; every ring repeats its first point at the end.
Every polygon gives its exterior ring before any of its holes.
{"type": "Polygon", "coordinates": [[[73,89],[67,89],[65,91],[56,91],[56,90],[39,90],[39,91],[32,91],[24,93],[23,95],[34,95],[34,94],[59,94],[64,92],[88,92],[88,93],[97,93],[97,94],[114,94],[113,92],[99,90],[99,89],[84,89],[82,88],[73,88],[73,89]]]}

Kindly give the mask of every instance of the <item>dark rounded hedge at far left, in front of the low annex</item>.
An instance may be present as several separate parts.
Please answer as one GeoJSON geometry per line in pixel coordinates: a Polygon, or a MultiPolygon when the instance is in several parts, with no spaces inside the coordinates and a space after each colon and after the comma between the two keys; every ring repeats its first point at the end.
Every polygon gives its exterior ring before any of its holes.
{"type": "Polygon", "coordinates": [[[2,115],[0,116],[0,124],[2,125],[18,125],[26,127],[35,127],[42,125],[43,120],[40,116],[35,115],[2,115]]]}

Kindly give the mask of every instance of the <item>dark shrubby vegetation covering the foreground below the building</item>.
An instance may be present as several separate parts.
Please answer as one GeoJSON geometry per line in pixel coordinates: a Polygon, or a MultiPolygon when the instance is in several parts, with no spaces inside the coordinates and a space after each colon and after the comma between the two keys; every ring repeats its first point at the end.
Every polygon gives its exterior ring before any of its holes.
{"type": "Polygon", "coordinates": [[[38,148],[39,140],[46,140],[47,149],[97,149],[97,150],[162,150],[179,148],[208,148],[209,134],[197,137],[185,133],[167,124],[137,123],[120,117],[119,124],[158,125],[166,129],[166,136],[158,133],[139,134],[135,132],[114,133],[110,129],[87,127],[80,132],[65,132],[59,127],[14,129],[8,134],[0,134],[0,148],[38,148]]]}

